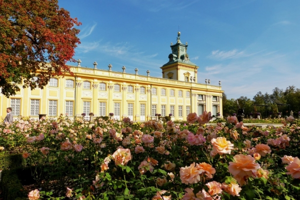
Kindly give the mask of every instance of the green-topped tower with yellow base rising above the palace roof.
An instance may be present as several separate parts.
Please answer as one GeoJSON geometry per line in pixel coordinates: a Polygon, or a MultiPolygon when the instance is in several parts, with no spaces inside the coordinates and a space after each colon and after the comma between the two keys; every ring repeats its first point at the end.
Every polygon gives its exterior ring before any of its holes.
{"type": "Polygon", "coordinates": [[[162,65],[162,78],[174,79],[186,82],[197,82],[197,69],[196,64],[189,60],[186,52],[187,42],[182,44],[180,41],[180,32],[177,34],[176,44],[171,42],[171,51],[168,55],[168,62],[162,65]]]}

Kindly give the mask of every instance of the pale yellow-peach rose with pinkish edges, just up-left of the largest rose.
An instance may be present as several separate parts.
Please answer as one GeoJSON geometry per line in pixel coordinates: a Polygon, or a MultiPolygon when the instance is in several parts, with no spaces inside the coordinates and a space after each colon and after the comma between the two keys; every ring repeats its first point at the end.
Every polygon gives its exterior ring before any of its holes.
{"type": "Polygon", "coordinates": [[[233,144],[231,144],[230,141],[227,141],[226,138],[223,137],[213,138],[210,143],[212,145],[210,156],[215,156],[216,154],[230,154],[231,149],[233,149],[233,144]]]}

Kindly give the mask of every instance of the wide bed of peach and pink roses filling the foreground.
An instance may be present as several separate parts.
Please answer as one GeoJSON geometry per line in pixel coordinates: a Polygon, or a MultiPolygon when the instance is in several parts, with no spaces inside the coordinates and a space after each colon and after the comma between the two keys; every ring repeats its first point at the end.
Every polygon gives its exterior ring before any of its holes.
{"type": "Polygon", "coordinates": [[[234,119],[206,126],[210,117],[192,113],[188,126],[23,118],[0,125],[0,153],[20,153],[40,169],[32,171],[31,199],[300,198],[297,121],[279,128],[234,119]]]}

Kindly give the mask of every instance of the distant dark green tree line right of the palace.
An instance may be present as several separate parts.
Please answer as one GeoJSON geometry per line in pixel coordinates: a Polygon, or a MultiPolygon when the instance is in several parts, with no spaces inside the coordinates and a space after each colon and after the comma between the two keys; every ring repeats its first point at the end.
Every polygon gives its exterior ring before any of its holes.
{"type": "Polygon", "coordinates": [[[275,87],[271,94],[257,92],[252,100],[244,96],[238,99],[228,99],[224,93],[222,97],[223,116],[237,112],[236,100],[248,117],[253,112],[260,113],[263,118],[270,115],[275,117],[278,112],[281,113],[281,116],[289,116],[291,110],[293,115],[298,117],[300,111],[300,89],[295,86],[288,86],[285,90],[275,87]]]}

